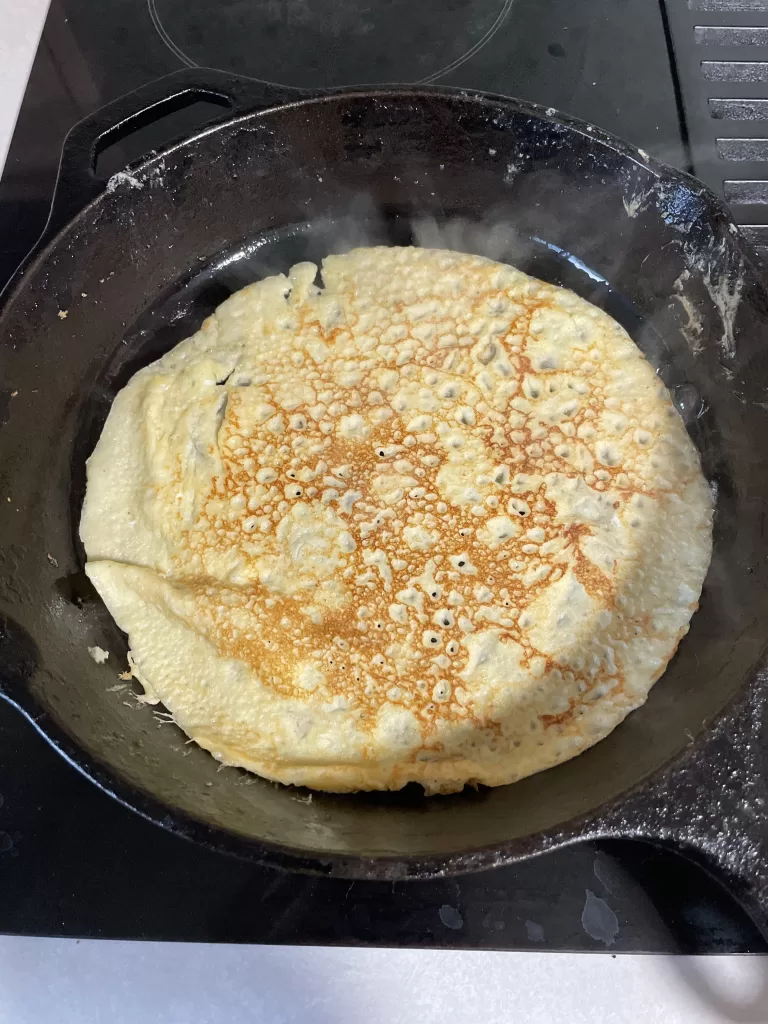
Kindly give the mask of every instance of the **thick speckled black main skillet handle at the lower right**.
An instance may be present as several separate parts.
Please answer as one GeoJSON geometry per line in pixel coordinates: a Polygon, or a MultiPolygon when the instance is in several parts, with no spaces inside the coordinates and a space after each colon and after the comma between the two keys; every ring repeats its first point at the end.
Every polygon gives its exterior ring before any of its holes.
{"type": "Polygon", "coordinates": [[[768,943],[768,672],[660,777],[600,814],[594,838],[640,839],[702,867],[768,943]]]}

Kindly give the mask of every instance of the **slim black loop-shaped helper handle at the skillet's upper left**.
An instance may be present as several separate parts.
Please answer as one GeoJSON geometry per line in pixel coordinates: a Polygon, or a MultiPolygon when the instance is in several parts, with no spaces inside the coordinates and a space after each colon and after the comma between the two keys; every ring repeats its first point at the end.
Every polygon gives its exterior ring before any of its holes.
{"type": "MultiPolygon", "coordinates": [[[[126,93],[79,121],[65,139],[48,221],[41,243],[58,231],[106,187],[95,172],[98,154],[196,99],[220,103],[221,117],[266,110],[313,93],[239,78],[207,68],[174,72],[126,93]]],[[[218,119],[217,119],[218,120],[218,119]]],[[[172,141],[172,140],[169,140],[172,141]]]]}

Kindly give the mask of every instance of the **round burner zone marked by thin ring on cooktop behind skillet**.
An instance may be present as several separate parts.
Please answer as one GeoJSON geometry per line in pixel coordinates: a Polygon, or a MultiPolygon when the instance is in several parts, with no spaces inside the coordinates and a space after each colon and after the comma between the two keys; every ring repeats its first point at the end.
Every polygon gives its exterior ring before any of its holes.
{"type": "Polygon", "coordinates": [[[303,88],[436,82],[474,56],[514,0],[147,0],[189,67],[303,88]]]}

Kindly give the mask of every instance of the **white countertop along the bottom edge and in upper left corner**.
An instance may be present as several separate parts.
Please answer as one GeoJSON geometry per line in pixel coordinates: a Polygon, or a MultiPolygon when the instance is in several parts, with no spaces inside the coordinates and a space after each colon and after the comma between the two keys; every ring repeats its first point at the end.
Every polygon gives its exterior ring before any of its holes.
{"type": "MultiPolygon", "coordinates": [[[[47,0],[0,0],[0,166],[46,7],[47,0]]],[[[0,1024],[142,1020],[768,1024],[768,957],[613,957],[0,936],[0,1024]]]]}

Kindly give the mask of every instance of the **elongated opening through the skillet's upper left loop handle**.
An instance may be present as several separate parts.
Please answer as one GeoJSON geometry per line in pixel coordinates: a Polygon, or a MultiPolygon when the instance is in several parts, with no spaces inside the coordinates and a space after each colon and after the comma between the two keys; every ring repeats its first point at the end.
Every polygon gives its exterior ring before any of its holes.
{"type": "Polygon", "coordinates": [[[203,89],[169,96],[105,131],[93,148],[93,172],[105,180],[153,150],[194,135],[231,109],[228,96],[203,89]]]}

